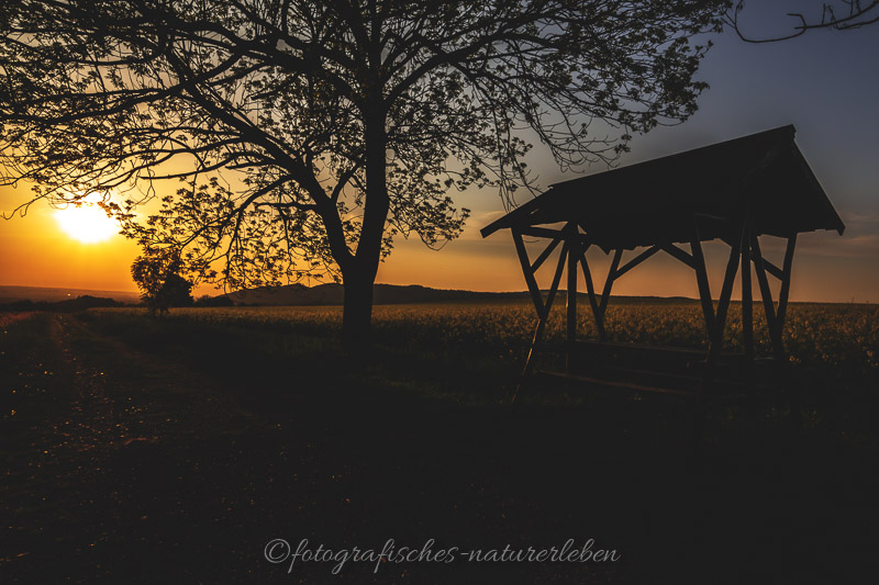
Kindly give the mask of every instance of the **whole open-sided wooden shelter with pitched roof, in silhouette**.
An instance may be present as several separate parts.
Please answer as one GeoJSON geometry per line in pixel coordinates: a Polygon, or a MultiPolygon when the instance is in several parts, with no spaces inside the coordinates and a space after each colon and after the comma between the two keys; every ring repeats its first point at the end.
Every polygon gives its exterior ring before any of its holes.
{"type": "MultiPolygon", "coordinates": [[[[790,293],[790,275],[797,236],[803,232],[845,228],[826,193],[794,143],[791,125],[761,132],[686,153],[556,183],[534,200],[483,227],[482,237],[510,229],[528,291],[537,312],[534,340],[523,371],[532,371],[535,353],[543,348],[542,336],[553,301],[567,267],[566,371],[568,379],[682,395],[703,395],[706,381],[717,375],[723,362],[745,373],[754,387],[754,311],[752,270],[756,275],[772,342],[774,361],[786,361],[782,330],[790,293]],[[535,258],[528,257],[524,237],[545,240],[535,258]],[[760,236],[783,238],[783,261],[776,265],[764,257],[760,236]],[[716,307],[709,288],[702,243],[720,239],[730,246],[728,260],[716,307]],[[544,300],[535,272],[559,247],[555,273],[544,300]],[[689,250],[679,245],[689,247],[689,250]],[[586,251],[596,246],[611,255],[610,271],[600,294],[596,290],[586,251]],[[623,261],[627,250],[635,254],[623,261]],[[577,373],[577,363],[588,349],[593,356],[627,351],[607,340],[604,314],[614,282],[658,252],[666,252],[692,269],[705,320],[708,349],[704,352],[656,348],[658,362],[683,364],[674,372],[653,376],[608,373],[607,368],[577,373]],[[577,339],[577,280],[582,270],[598,339],[577,339]],[[742,278],[742,347],[739,355],[722,353],[723,330],[736,274],[742,278]],[[777,303],[769,277],[780,281],[777,303]],[[604,352],[604,353],[602,353],[604,352]],[[692,372],[702,367],[698,376],[692,372]],[[597,370],[604,370],[601,375],[597,370]],[[619,375],[617,375],[619,374],[619,375]],[[683,375],[687,374],[687,375],[683,375]],[[685,378],[698,378],[687,385],[685,378]]],[[[644,346],[628,346],[644,353],[644,346]]],[[[600,360],[605,362],[603,358],[600,360]]],[[[630,362],[631,363],[631,362],[630,362]]],[[[657,363],[654,360],[653,363],[657,363]]],[[[628,369],[630,373],[632,369],[628,369]]],[[[634,371],[638,371],[635,369],[634,371]]],[[[645,373],[645,372],[641,372],[645,373]]],[[[520,384],[521,385],[521,384],[520,384]]],[[[753,391],[752,391],[753,395],[753,391]]]]}

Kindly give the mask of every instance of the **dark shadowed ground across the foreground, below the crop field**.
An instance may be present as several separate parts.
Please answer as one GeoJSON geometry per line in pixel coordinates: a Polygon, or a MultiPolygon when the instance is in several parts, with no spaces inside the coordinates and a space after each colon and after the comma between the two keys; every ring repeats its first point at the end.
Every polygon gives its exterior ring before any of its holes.
{"type": "Polygon", "coordinates": [[[349,363],[319,340],[149,327],[0,327],[0,583],[879,582],[876,413],[858,395],[806,404],[799,430],[771,403],[756,423],[715,410],[697,464],[675,401],[511,407],[515,372],[461,356],[402,344],[349,363]],[[436,380],[487,397],[424,391],[436,380]],[[334,575],[270,563],[274,539],[459,553],[334,575]],[[619,560],[460,554],[568,539],[619,560]]]}

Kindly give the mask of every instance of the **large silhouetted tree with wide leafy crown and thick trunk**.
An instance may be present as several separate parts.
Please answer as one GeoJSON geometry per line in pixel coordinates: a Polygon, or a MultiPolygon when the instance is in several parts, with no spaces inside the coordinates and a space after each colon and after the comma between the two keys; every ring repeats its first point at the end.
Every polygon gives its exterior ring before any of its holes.
{"type": "Polygon", "coordinates": [[[514,204],[531,184],[525,137],[577,167],[691,115],[701,34],[728,5],[7,1],[0,162],[36,198],[124,191],[127,234],[181,250],[188,274],[233,289],[341,279],[356,346],[393,237],[456,237],[468,212],[453,189],[514,204]],[[160,179],[183,187],[135,222],[160,179]]]}

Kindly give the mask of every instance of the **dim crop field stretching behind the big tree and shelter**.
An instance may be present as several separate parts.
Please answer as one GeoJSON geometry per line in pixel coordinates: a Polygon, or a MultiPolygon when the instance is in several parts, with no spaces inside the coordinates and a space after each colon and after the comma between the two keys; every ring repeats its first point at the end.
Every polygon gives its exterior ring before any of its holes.
{"type": "MultiPolygon", "coordinates": [[[[758,355],[770,355],[766,319],[755,307],[758,355]]],[[[90,319],[116,331],[144,329],[141,308],[99,308],[90,319]]],[[[288,346],[310,339],[335,347],[342,326],[338,306],[253,306],[176,308],[164,317],[170,327],[234,328],[268,334],[288,346]]],[[[564,303],[557,303],[544,340],[561,342],[564,303]],[[561,306],[559,306],[559,304],[561,306]]],[[[532,341],[534,308],[525,302],[379,305],[374,310],[376,341],[386,349],[458,355],[469,360],[497,360],[515,371],[532,341]]],[[[609,339],[645,345],[705,348],[701,306],[697,302],[611,303],[605,316],[609,339]]],[[[132,333],[131,335],[137,335],[132,333]]],[[[578,336],[596,337],[594,322],[580,311],[578,336]]],[[[819,373],[838,387],[879,389],[879,305],[793,303],[788,311],[785,347],[795,370],[819,373]]],[[[733,303],[724,347],[742,351],[741,307],[733,303]]],[[[337,349],[337,347],[335,347],[337,349]]]]}

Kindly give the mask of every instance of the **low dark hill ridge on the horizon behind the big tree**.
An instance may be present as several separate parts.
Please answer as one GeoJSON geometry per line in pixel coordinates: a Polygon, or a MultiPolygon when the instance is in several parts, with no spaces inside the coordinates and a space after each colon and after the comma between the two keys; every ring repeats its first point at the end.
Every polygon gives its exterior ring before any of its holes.
{"type": "MultiPolygon", "coordinates": [[[[419,284],[376,284],[372,290],[372,300],[377,305],[393,305],[407,303],[454,303],[454,302],[527,302],[531,295],[527,292],[476,292],[446,289],[431,289],[419,284]]],[[[564,291],[559,291],[557,302],[565,303],[564,291]]],[[[342,284],[319,284],[305,286],[304,284],[288,284],[286,286],[264,286],[230,293],[229,296],[235,304],[243,305],[341,305],[344,300],[342,284]]],[[[578,295],[586,300],[586,295],[578,295]]],[[[685,297],[652,297],[652,296],[614,296],[614,302],[626,303],[680,303],[694,302],[685,297]]]]}

